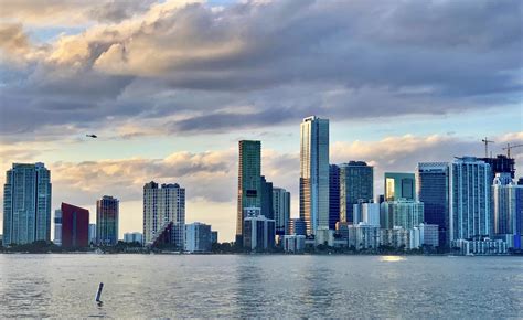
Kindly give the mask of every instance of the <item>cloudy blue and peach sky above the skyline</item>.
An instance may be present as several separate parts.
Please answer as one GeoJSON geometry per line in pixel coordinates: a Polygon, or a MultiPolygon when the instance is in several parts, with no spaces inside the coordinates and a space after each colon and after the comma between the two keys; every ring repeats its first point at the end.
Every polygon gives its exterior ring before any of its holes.
{"type": "MultiPolygon", "coordinates": [[[[523,142],[521,1],[0,0],[0,171],[44,162],[53,207],[186,189],[186,221],[233,241],[237,141],[298,215],[299,124],[331,163],[414,172],[523,142]],[[98,139],[87,138],[96,134],[98,139]]],[[[523,175],[523,148],[513,149],[523,175]]],[[[1,195],[0,195],[1,196],[1,195]]],[[[1,217],[0,217],[1,218],[1,217]]],[[[1,226],[1,223],[0,223],[1,226]]]]}

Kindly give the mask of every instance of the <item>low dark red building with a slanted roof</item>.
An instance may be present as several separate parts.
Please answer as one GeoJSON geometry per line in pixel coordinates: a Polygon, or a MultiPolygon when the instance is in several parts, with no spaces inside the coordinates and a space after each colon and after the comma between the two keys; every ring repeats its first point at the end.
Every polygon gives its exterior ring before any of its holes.
{"type": "Polygon", "coordinates": [[[89,245],[89,211],[62,202],[62,246],[89,245]]]}

